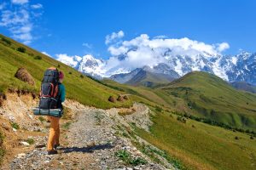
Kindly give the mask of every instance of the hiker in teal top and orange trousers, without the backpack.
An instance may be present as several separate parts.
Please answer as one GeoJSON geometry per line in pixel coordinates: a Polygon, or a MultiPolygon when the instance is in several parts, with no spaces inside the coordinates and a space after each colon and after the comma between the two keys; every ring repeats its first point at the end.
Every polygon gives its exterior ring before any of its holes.
{"type": "MultiPolygon", "coordinates": [[[[64,78],[64,74],[62,71],[59,71],[59,91],[58,91],[58,100],[57,100],[57,108],[63,109],[61,103],[65,100],[65,87],[62,84],[64,78]]],[[[47,150],[49,155],[57,154],[57,147],[60,146],[60,118],[55,116],[48,116],[48,120],[50,122],[49,128],[49,139],[47,144],[47,150]]]]}

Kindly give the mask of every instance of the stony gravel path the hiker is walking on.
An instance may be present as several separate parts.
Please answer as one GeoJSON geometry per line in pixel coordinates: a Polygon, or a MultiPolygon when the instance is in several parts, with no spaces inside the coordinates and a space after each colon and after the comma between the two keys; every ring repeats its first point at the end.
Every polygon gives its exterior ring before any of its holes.
{"type": "Polygon", "coordinates": [[[38,148],[21,153],[6,169],[166,169],[155,164],[119,135],[119,125],[106,111],[86,108],[73,123],[62,126],[59,154],[48,156],[47,137],[37,139],[38,148]]]}

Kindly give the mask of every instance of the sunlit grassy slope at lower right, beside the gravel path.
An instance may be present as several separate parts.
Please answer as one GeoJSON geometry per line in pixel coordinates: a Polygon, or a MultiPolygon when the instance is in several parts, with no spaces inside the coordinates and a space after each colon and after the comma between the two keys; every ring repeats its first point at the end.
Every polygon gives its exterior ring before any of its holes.
{"type": "Polygon", "coordinates": [[[159,113],[151,133],[137,129],[149,143],[182,161],[189,169],[255,169],[255,139],[202,122],[178,122],[175,115],[159,113]],[[192,127],[193,125],[193,127],[192,127]],[[235,137],[239,139],[235,139],[235,137]]]}

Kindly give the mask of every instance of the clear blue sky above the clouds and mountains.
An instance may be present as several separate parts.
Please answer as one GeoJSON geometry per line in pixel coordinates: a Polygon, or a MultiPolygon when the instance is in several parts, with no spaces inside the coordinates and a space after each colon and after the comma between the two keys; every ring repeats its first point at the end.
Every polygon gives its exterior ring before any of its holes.
{"type": "Polygon", "coordinates": [[[119,31],[124,40],[147,34],[227,42],[223,54],[237,54],[256,52],[255,8],[253,0],[1,0],[0,32],[51,56],[107,59],[106,36],[119,31]],[[3,20],[17,16],[18,21],[3,20]]]}

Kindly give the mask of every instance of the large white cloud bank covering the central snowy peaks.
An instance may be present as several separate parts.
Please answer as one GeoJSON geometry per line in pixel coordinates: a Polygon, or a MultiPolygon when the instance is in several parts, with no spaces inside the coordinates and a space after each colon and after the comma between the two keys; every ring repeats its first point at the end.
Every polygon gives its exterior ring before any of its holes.
{"type": "Polygon", "coordinates": [[[175,55],[189,56],[195,60],[193,62],[196,62],[200,55],[206,58],[218,56],[229,47],[227,42],[207,44],[187,37],[179,39],[163,36],[150,38],[147,34],[142,34],[129,41],[112,43],[108,47],[112,57],[106,62],[106,76],[113,72],[131,71],[144,65],[154,66],[166,63],[166,59],[175,55]],[[122,56],[125,57],[119,59],[122,56]]]}

